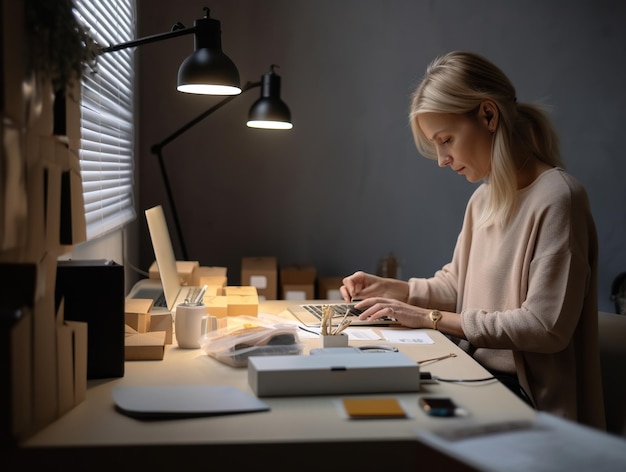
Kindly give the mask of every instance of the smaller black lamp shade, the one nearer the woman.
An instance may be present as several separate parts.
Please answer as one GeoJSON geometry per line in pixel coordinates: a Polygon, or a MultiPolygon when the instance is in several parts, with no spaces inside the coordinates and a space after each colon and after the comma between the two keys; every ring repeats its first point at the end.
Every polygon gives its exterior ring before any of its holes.
{"type": "Polygon", "coordinates": [[[250,108],[247,125],[251,128],[291,129],[291,112],[280,99],[280,76],[274,71],[263,76],[261,98],[250,108]]]}

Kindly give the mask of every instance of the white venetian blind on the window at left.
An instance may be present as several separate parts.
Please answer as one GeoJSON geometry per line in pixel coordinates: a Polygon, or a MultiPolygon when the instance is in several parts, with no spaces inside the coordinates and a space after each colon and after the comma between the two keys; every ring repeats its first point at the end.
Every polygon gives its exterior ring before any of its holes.
{"type": "MultiPolygon", "coordinates": [[[[135,0],[74,0],[76,13],[100,46],[135,39],[135,0]]],[[[133,197],[134,48],[98,56],[81,97],[79,151],[87,239],[135,218],[133,197]]]]}

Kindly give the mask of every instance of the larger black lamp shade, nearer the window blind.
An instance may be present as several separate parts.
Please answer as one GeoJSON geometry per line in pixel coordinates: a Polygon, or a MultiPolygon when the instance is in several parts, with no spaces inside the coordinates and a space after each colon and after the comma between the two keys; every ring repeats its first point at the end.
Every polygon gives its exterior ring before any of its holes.
{"type": "Polygon", "coordinates": [[[241,93],[239,71],[222,52],[220,22],[208,17],[195,21],[195,51],[178,69],[178,90],[206,95],[241,93]]]}

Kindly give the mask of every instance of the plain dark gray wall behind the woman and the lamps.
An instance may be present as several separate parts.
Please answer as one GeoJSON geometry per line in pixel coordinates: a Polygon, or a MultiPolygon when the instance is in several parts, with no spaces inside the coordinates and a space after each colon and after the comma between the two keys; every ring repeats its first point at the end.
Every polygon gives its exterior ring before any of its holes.
{"type": "MultiPolygon", "coordinates": [[[[207,2],[138,0],[139,36],[191,26],[207,2]]],[[[452,49],[498,64],[521,101],[552,108],[568,170],[583,182],[600,240],[600,309],[626,270],[626,3],[607,0],[212,0],[242,83],[272,63],[292,131],[245,126],[258,89],[164,149],[190,259],[242,256],[311,264],[319,276],[375,271],[393,251],[402,277],[452,254],[475,185],[420,156],[409,97],[428,62],[452,49]]],[[[165,191],[150,146],[220,99],[175,90],[190,36],[138,48],[140,260],[154,260],[142,210],[165,191]]],[[[175,239],[173,221],[170,233],[175,239]]],[[[178,250],[178,249],[177,249],[178,250]]],[[[179,259],[180,252],[178,252],[179,259]]]]}

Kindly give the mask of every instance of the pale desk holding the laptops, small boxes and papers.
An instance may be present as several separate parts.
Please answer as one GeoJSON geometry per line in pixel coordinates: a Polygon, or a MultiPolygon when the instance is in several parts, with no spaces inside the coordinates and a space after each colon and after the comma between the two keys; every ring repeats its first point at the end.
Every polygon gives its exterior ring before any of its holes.
{"type": "MultiPolygon", "coordinates": [[[[288,316],[286,301],[267,301],[260,313],[288,316]]],[[[293,303],[293,302],[292,302],[293,303]]],[[[398,344],[416,361],[454,352],[457,357],[422,367],[441,378],[472,379],[489,373],[438,331],[427,330],[433,344],[398,344]]],[[[321,341],[305,339],[305,353],[321,341]]],[[[381,341],[382,342],[382,341],[381,341]]],[[[351,341],[351,344],[372,341],[351,341]]],[[[376,342],[380,343],[380,342],[376,342]]],[[[444,470],[473,470],[419,442],[417,431],[436,431],[468,423],[532,420],[535,412],[496,381],[475,384],[424,384],[417,393],[376,394],[399,399],[408,419],[347,420],[341,396],[263,398],[268,412],[208,418],[140,421],[114,409],[111,390],[116,385],[230,385],[252,393],[247,369],[232,368],[201,349],[167,347],[162,361],[127,362],[123,378],[92,380],[86,400],[39,431],[8,458],[3,470],[57,464],[62,470],[162,470],[195,465],[227,470],[352,470],[356,467],[391,467],[394,472],[441,465],[444,470]],[[431,418],[419,408],[422,394],[452,397],[465,408],[467,418],[431,418]],[[323,467],[322,467],[323,466],[323,467]],[[316,467],[317,468],[317,467],[316,467]]],[[[2,465],[0,463],[0,465],[2,465]]]]}

